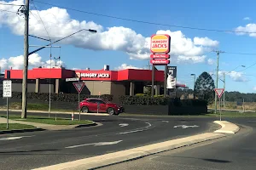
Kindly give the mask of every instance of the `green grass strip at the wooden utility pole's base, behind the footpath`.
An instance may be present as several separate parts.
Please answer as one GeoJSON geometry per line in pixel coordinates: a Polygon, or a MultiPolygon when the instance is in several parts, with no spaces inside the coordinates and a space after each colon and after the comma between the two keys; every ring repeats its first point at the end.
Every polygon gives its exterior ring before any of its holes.
{"type": "MultiPolygon", "coordinates": [[[[1,115],[2,117],[6,117],[6,115],[1,115]]],[[[26,119],[21,119],[18,115],[11,115],[9,119],[16,120],[16,121],[24,121],[24,122],[38,122],[44,124],[52,124],[52,125],[79,125],[79,124],[92,124],[93,122],[89,120],[74,120],[65,119],[65,118],[58,118],[55,121],[55,117],[46,117],[46,116],[27,116],[26,119]]]]}

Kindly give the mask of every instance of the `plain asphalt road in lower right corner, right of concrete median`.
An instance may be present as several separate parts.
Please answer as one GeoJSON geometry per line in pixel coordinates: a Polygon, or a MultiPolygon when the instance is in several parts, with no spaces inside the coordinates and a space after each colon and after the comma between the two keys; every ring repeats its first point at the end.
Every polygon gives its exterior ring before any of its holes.
{"type": "Polygon", "coordinates": [[[118,169],[254,170],[256,166],[256,119],[230,119],[241,131],[223,139],[170,150],[137,161],[104,167],[118,169]]]}

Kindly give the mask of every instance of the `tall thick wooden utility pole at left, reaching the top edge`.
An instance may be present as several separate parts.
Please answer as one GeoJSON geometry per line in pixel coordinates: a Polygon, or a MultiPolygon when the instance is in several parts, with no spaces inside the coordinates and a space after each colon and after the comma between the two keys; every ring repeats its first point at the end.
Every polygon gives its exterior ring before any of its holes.
{"type": "Polygon", "coordinates": [[[22,81],[22,112],[21,118],[26,118],[26,95],[27,95],[27,67],[28,67],[28,20],[29,20],[29,0],[26,0],[23,13],[25,14],[25,28],[24,28],[24,68],[22,81]]]}

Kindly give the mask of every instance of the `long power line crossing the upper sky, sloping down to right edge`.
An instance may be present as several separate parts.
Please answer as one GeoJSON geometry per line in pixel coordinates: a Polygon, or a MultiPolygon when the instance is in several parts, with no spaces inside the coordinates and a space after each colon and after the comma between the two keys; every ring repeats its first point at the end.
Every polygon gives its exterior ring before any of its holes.
{"type": "Polygon", "coordinates": [[[84,14],[94,14],[94,15],[97,15],[97,16],[108,17],[108,18],[112,18],[112,19],[116,19],[116,20],[126,20],[126,21],[149,24],[149,25],[156,25],[156,26],[170,26],[170,27],[184,28],[184,29],[190,29],[190,30],[200,30],[200,31],[234,32],[234,33],[247,33],[247,34],[256,33],[256,32],[249,32],[249,31],[230,31],[230,30],[217,30],[217,29],[190,27],[190,26],[167,25],[167,24],[148,22],[148,21],[143,21],[143,20],[132,20],[132,19],[127,19],[127,18],[121,18],[121,17],[107,15],[107,14],[92,13],[92,12],[79,10],[79,9],[75,9],[75,8],[68,8],[68,7],[64,7],[64,6],[61,6],[61,5],[55,5],[55,4],[52,4],[52,3],[43,3],[43,2],[40,2],[40,1],[35,1],[35,2],[46,4],[46,5],[49,5],[49,6],[55,6],[55,7],[58,7],[58,8],[66,8],[66,9],[73,10],[73,11],[76,11],[76,12],[79,12],[79,13],[84,13],[84,14]]]}

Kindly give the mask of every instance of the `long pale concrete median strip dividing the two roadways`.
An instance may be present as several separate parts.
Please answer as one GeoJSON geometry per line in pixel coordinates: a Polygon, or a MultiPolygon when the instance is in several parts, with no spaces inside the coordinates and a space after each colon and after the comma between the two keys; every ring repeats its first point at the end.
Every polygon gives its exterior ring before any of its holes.
{"type": "Polygon", "coordinates": [[[223,138],[225,137],[224,133],[236,133],[239,130],[239,127],[237,129],[237,126],[230,122],[218,122],[218,124],[221,125],[221,129],[223,130],[221,131],[221,133],[202,133],[182,139],[173,139],[157,144],[149,144],[131,150],[122,150],[102,156],[93,156],[90,158],[85,158],[77,161],[69,161],[53,166],[40,167],[37,168],[37,170],[82,170],[106,167],[109,165],[117,164],[119,162],[131,161],[133,159],[142,158],[143,156],[150,156],[156,153],[176,149],[190,144],[197,144],[207,140],[223,138]]]}

